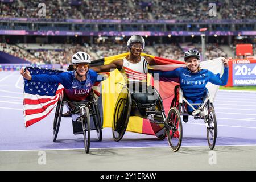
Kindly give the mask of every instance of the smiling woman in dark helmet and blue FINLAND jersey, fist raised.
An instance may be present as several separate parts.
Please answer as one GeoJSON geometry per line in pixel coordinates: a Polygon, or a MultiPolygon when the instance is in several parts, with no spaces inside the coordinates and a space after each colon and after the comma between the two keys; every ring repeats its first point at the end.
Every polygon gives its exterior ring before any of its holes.
{"type": "MultiPolygon", "coordinates": [[[[183,90],[184,97],[191,104],[203,102],[203,95],[208,82],[221,86],[227,84],[228,60],[222,59],[222,63],[224,63],[224,74],[222,77],[214,75],[208,69],[200,68],[200,53],[197,50],[185,52],[184,60],[186,68],[180,67],[166,72],[150,70],[150,73],[159,73],[159,76],[166,78],[179,78],[180,88],[183,90]]],[[[198,108],[198,106],[194,107],[195,109],[198,108]]],[[[192,111],[193,109],[188,106],[187,112],[189,115],[192,115],[192,111]]]]}

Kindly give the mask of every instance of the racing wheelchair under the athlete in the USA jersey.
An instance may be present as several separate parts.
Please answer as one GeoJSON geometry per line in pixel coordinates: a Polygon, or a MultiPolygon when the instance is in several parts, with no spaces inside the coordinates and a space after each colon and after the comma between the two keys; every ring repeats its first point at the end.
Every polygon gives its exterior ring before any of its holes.
{"type": "Polygon", "coordinates": [[[102,122],[93,89],[90,91],[90,95],[88,97],[88,100],[80,102],[69,101],[65,96],[65,93],[60,97],[57,102],[53,122],[53,142],[56,142],[57,139],[61,117],[65,117],[63,114],[63,107],[65,104],[72,104],[73,109],[71,110],[71,114],[78,115],[77,120],[75,122],[72,121],[73,133],[75,135],[84,135],[84,148],[86,153],[89,153],[90,150],[90,131],[93,130],[93,128],[97,132],[98,140],[102,140],[102,122]],[[93,118],[93,122],[90,121],[90,117],[93,118]],[[92,125],[94,125],[94,127],[92,125]]]}

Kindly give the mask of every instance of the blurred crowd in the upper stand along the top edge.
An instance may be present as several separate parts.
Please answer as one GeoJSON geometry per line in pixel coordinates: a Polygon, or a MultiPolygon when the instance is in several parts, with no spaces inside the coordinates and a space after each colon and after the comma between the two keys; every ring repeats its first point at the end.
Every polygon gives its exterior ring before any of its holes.
{"type": "Polygon", "coordinates": [[[12,3],[0,1],[0,17],[52,18],[52,19],[112,19],[112,20],[205,20],[255,19],[255,1],[214,1],[217,17],[209,16],[211,1],[204,0],[90,0],[71,5],[68,0],[43,1],[46,16],[40,17],[40,0],[20,0],[12,3]]]}

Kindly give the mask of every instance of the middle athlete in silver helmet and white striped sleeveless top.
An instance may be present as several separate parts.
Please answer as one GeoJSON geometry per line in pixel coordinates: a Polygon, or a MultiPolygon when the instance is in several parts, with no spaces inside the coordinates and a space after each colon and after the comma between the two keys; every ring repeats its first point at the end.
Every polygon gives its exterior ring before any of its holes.
{"type": "MultiPolygon", "coordinates": [[[[145,41],[140,35],[133,35],[127,41],[130,52],[123,59],[113,60],[109,64],[91,67],[96,72],[110,72],[118,69],[125,78],[126,86],[133,99],[140,104],[154,103],[157,98],[154,89],[147,87],[148,65],[156,65],[153,58],[141,56],[145,41]]],[[[152,118],[148,118],[151,119],[152,118]]]]}

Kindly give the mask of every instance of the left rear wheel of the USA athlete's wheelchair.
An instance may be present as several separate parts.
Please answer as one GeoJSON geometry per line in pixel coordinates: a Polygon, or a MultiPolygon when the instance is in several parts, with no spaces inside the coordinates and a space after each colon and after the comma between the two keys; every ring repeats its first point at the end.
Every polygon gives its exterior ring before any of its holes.
{"type": "Polygon", "coordinates": [[[56,142],[57,135],[59,133],[63,106],[64,106],[63,96],[61,96],[60,100],[57,102],[57,107],[55,110],[55,116],[54,116],[54,121],[53,121],[53,138],[52,138],[53,142],[56,142]]]}

